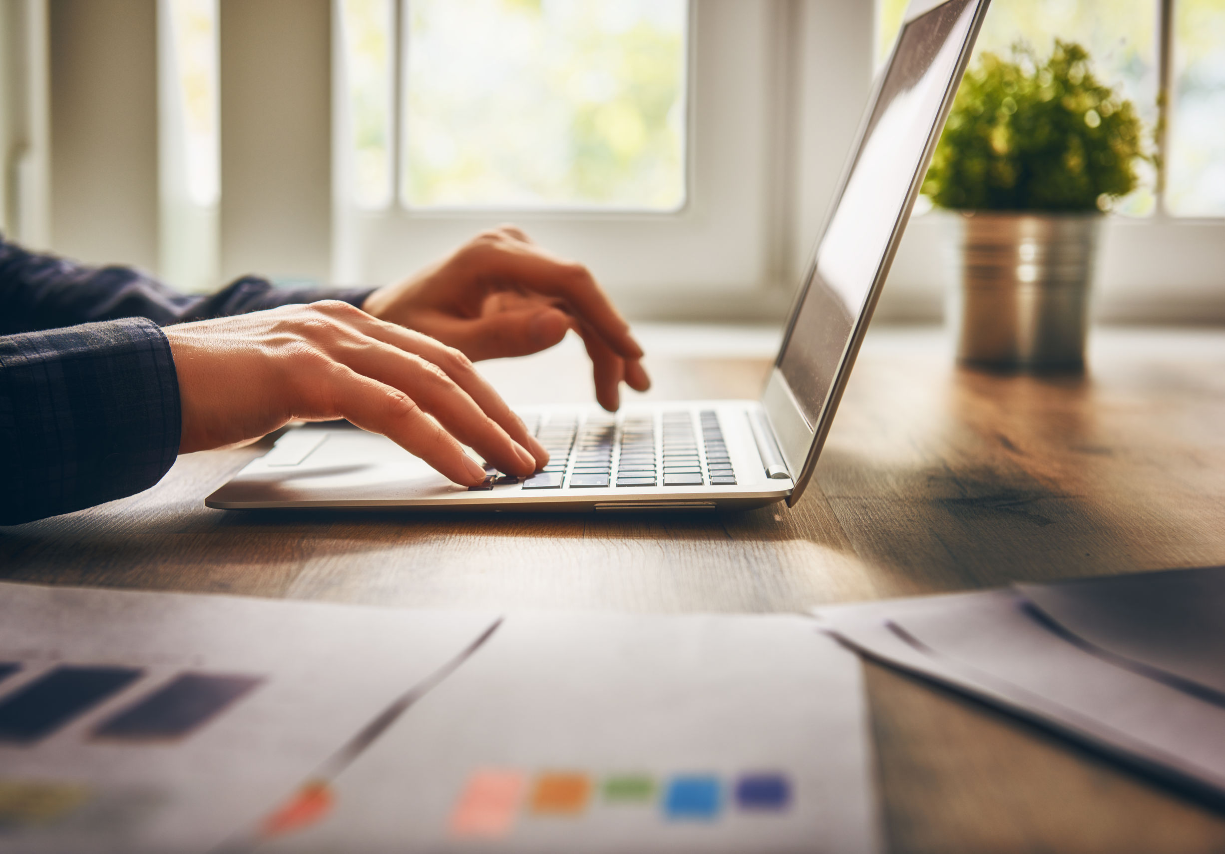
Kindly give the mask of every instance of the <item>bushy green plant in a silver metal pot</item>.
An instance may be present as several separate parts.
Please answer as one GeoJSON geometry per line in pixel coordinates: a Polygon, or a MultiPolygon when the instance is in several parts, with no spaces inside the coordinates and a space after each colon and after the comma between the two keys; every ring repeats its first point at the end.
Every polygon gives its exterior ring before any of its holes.
{"type": "Polygon", "coordinates": [[[1084,48],[985,53],[965,74],[922,192],[957,211],[958,358],[1084,364],[1102,213],[1137,185],[1144,129],[1084,48]]]}

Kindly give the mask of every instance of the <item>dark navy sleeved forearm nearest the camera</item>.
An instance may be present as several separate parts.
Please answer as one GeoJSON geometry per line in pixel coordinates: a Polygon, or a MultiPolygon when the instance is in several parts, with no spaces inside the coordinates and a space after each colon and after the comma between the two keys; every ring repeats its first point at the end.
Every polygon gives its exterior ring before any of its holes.
{"type": "Polygon", "coordinates": [[[170,347],[148,320],[0,337],[0,524],[152,486],[180,418],[170,347]]]}

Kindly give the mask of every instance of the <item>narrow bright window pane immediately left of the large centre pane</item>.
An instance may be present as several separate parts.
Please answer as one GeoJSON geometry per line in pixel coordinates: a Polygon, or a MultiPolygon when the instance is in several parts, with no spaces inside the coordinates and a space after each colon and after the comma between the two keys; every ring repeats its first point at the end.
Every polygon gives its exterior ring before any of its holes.
{"type": "Polygon", "coordinates": [[[391,81],[393,0],[344,0],[344,118],[349,138],[345,184],[363,208],[391,202],[391,81]]]}

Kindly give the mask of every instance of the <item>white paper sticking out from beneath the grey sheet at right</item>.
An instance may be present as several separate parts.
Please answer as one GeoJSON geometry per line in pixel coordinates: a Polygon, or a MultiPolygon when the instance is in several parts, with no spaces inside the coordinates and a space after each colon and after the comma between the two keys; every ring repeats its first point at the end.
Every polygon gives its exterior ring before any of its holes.
{"type": "Polygon", "coordinates": [[[851,647],[1054,727],[1169,782],[1225,794],[1225,713],[1051,632],[1014,591],[821,608],[851,647]]]}

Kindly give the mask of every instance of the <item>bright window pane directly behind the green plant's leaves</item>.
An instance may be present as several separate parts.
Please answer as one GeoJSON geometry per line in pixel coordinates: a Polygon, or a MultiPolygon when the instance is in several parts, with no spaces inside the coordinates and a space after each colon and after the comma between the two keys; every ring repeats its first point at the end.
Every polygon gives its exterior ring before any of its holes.
{"type": "MultiPolygon", "coordinates": [[[[1219,5],[1221,0],[1208,1],[1219,5]]],[[[897,37],[905,5],[904,0],[877,0],[881,60],[897,37]],[[886,26],[892,29],[884,31],[886,26]]],[[[1089,51],[1098,78],[1121,88],[1152,134],[1158,120],[1156,31],[1158,0],[992,0],[971,62],[985,50],[1007,55],[1018,39],[1040,54],[1051,50],[1056,37],[1077,42],[1089,51]]],[[[1140,186],[1120,200],[1117,213],[1147,216],[1155,208],[1156,173],[1143,163],[1137,172],[1140,186]]]]}

